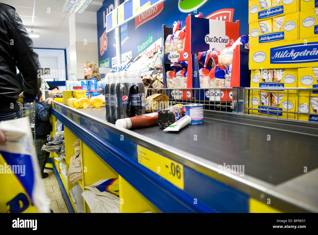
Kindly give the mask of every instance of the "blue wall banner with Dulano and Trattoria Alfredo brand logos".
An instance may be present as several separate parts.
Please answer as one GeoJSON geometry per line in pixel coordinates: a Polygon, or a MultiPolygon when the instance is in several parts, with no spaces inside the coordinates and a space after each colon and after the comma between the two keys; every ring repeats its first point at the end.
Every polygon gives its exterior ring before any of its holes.
{"type": "MultiPolygon", "coordinates": [[[[120,4],[123,2],[121,0],[120,4]]],[[[136,14],[135,18],[121,25],[121,53],[127,56],[122,58],[122,62],[128,62],[128,58],[131,59],[137,55],[153,56],[153,53],[162,47],[163,24],[172,28],[173,22],[180,20],[184,26],[188,14],[196,15],[200,11],[204,18],[232,22],[239,20],[240,35],[246,35],[249,31],[247,9],[248,0],[227,0],[217,3],[211,0],[166,0],[161,2],[142,14],[136,14]]],[[[110,62],[114,67],[115,30],[106,33],[106,15],[112,10],[114,10],[114,0],[105,0],[103,6],[97,11],[97,36],[100,48],[99,62],[102,62],[102,66],[106,66],[107,58],[112,58],[110,62]]]]}

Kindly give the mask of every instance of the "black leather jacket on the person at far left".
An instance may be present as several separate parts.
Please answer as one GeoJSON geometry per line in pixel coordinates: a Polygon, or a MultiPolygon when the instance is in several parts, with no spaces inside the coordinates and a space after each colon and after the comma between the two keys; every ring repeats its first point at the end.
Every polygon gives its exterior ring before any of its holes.
{"type": "Polygon", "coordinates": [[[41,85],[38,54],[14,7],[0,3],[0,112],[19,110],[16,66],[23,75],[23,95],[35,98],[41,85]]]}

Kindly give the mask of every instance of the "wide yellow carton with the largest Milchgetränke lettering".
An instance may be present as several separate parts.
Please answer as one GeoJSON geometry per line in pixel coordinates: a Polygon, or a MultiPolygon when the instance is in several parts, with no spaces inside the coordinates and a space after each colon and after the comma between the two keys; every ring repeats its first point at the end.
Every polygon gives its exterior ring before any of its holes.
{"type": "Polygon", "coordinates": [[[318,39],[278,41],[250,46],[250,69],[318,67],[318,39]]]}

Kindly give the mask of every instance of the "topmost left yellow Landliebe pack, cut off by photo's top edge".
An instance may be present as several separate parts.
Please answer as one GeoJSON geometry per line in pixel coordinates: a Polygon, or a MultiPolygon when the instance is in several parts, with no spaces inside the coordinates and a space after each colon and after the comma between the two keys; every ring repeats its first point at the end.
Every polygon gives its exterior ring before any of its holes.
{"type": "Polygon", "coordinates": [[[262,21],[273,17],[284,16],[300,11],[300,0],[281,0],[280,4],[264,7],[259,0],[248,1],[248,23],[262,21]],[[264,8],[262,8],[264,7],[264,8]]]}

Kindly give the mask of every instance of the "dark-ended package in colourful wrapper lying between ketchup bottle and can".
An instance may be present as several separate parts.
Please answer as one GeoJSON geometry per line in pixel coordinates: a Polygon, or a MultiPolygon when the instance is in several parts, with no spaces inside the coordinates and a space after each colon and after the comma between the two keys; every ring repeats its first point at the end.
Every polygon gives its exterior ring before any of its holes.
{"type": "Polygon", "coordinates": [[[158,124],[166,128],[185,115],[182,104],[173,105],[158,112],[158,124]]]}

